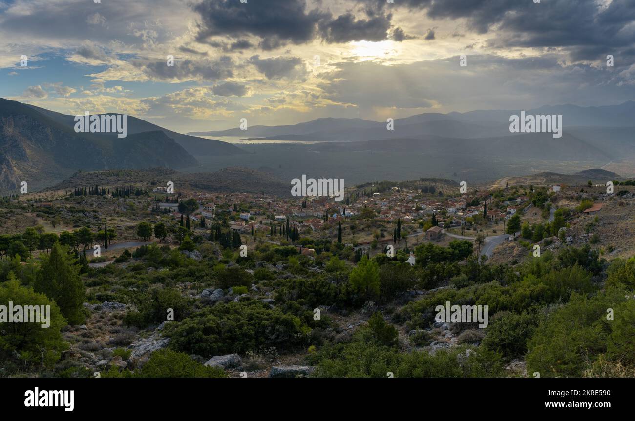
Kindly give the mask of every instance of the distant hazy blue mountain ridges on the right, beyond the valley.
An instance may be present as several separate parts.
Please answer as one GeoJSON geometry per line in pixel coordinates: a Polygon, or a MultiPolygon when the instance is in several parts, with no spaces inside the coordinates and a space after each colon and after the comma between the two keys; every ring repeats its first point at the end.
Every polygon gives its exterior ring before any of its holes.
{"type": "MultiPolygon", "coordinates": [[[[635,156],[635,101],[605,107],[545,106],[524,110],[526,115],[563,115],[560,139],[545,133],[512,134],[509,117],[521,110],[474,110],[458,113],[423,113],[386,122],[324,118],[292,126],[252,126],[224,131],[189,133],[197,136],[241,136],[245,139],[288,141],[366,142],[368,150],[408,147],[455,150],[458,153],[505,156],[504,148],[516,148],[528,159],[612,160],[635,156]],[[466,141],[465,139],[474,139],[466,141]],[[398,140],[398,142],[396,142],[398,140]],[[518,149],[520,148],[520,149],[518,149]]],[[[361,145],[355,146],[359,148],[361,145]]]]}

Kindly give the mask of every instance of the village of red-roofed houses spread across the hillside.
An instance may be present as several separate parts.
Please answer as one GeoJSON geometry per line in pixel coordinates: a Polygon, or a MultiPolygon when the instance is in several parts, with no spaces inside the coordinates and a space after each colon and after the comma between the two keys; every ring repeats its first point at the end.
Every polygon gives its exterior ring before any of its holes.
{"type": "MultiPolygon", "coordinates": [[[[346,200],[342,202],[327,196],[282,198],[255,193],[201,191],[182,191],[177,200],[173,200],[162,187],[154,188],[152,194],[159,200],[153,206],[170,214],[175,221],[188,215],[179,212],[178,203],[174,202],[196,200],[199,208],[189,214],[189,218],[197,230],[209,230],[218,219],[224,219],[231,230],[241,235],[264,236],[267,241],[276,242],[274,234],[282,233],[287,221],[300,235],[312,238],[335,238],[338,226],[342,224],[345,245],[371,254],[373,250],[381,251],[387,244],[407,249],[409,242],[411,245],[420,242],[445,244],[457,238],[479,242],[479,238],[490,236],[512,240],[515,235],[505,235],[507,221],[517,212],[521,214],[535,208],[529,196],[531,192],[524,188],[510,188],[509,191],[484,188],[469,194],[446,188],[448,192],[458,193],[451,195],[445,195],[433,186],[392,186],[384,191],[373,191],[374,188],[372,185],[364,189],[349,188],[346,200]],[[161,197],[168,200],[161,201],[161,197]],[[398,223],[397,236],[396,228],[392,226],[398,223]],[[378,245],[383,247],[378,248],[378,245]]],[[[548,190],[543,187],[542,193],[546,198],[560,190],[560,185],[553,185],[548,190]]],[[[599,209],[601,204],[585,212],[592,214],[599,209]]],[[[549,221],[552,213],[547,216],[549,221]]],[[[487,249],[488,256],[493,248],[487,249]]],[[[303,249],[302,245],[298,250],[304,254],[314,252],[303,249]]]]}

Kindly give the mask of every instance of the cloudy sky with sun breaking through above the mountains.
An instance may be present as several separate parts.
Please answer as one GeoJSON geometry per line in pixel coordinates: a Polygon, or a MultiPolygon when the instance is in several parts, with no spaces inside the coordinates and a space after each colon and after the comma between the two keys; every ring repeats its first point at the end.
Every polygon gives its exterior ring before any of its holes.
{"type": "Polygon", "coordinates": [[[635,0],[95,1],[0,0],[0,97],[181,133],[635,100],[635,0]]]}

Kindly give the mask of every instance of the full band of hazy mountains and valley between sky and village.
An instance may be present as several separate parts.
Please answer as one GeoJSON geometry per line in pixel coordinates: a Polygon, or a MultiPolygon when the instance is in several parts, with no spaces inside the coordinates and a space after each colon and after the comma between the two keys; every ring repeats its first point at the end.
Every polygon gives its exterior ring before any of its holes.
{"type": "MultiPolygon", "coordinates": [[[[396,119],[393,130],[386,122],[325,118],[189,134],[128,116],[128,136],[118,138],[116,133],[75,133],[72,115],[0,98],[0,191],[15,193],[20,181],[29,181],[30,189],[53,186],[78,170],[163,167],[211,173],[227,167],[228,156],[232,165],[271,167],[271,173],[284,180],[311,172],[338,174],[354,183],[421,176],[493,180],[531,170],[568,172],[589,167],[617,169],[627,176],[635,173],[634,101],[525,112],[563,115],[563,135],[510,133],[509,116],[519,111],[475,110],[396,119]],[[239,148],[196,135],[319,143],[276,146],[246,141],[239,148]]],[[[205,179],[211,185],[211,178],[205,179]]]]}

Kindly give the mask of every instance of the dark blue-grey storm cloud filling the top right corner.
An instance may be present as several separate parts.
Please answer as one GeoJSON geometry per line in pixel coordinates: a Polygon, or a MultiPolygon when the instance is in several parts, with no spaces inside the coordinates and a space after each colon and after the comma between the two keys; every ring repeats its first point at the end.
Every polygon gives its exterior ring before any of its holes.
{"type": "Polygon", "coordinates": [[[464,18],[479,34],[494,32],[492,48],[565,48],[572,60],[621,53],[635,60],[635,0],[361,0],[373,10],[425,10],[432,19],[464,18]]]}

